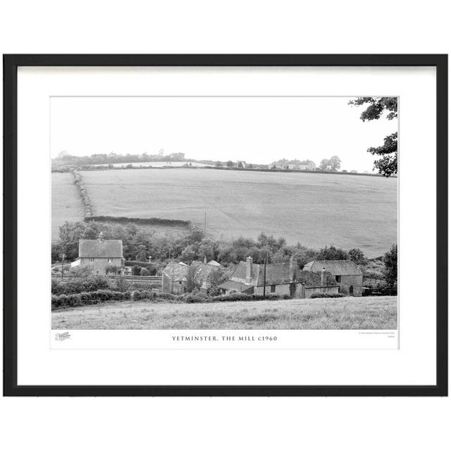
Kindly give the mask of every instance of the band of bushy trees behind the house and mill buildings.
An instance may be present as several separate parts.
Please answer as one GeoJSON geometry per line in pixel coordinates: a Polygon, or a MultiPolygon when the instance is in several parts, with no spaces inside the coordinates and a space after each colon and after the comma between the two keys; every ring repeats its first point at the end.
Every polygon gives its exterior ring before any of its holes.
{"type": "MultiPolygon", "coordinates": [[[[284,237],[276,238],[263,232],[256,240],[249,237],[218,240],[204,235],[202,230],[194,226],[191,226],[185,235],[174,237],[156,234],[151,228],[140,227],[134,223],[109,224],[97,221],[63,223],[59,228],[59,239],[51,247],[52,261],[61,261],[63,253],[66,261],[77,259],[79,240],[96,240],[100,232],[106,240],[122,240],[125,260],[144,263],[152,257],[154,268],[159,273],[169,261],[173,260],[183,261],[186,264],[191,264],[192,261],[204,261],[204,259],[216,260],[227,268],[239,261],[245,261],[247,257],[252,257],[257,264],[264,263],[265,259],[268,263],[283,263],[293,257],[300,269],[312,260],[349,259],[364,270],[369,268],[371,271],[370,259],[366,258],[362,249],[358,248],[342,249],[330,245],[313,249],[300,242],[296,245],[288,245],[284,237]]],[[[380,259],[384,265],[383,278],[387,283],[395,285],[397,246],[393,245],[380,259]]]]}

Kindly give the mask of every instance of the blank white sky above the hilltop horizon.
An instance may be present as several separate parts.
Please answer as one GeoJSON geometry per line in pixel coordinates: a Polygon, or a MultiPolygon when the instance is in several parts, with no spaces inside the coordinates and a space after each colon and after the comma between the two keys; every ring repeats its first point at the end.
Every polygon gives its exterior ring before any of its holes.
{"type": "Polygon", "coordinates": [[[165,154],[189,159],[321,159],[373,171],[368,147],[397,131],[397,119],[362,122],[352,97],[52,97],[51,156],[165,154]]]}

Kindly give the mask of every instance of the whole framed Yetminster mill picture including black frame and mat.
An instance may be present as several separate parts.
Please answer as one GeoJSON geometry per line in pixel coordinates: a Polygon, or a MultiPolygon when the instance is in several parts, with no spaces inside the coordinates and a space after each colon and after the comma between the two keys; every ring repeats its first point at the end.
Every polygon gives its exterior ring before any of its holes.
{"type": "Polygon", "coordinates": [[[4,394],[447,395],[446,55],[4,55],[4,394]]]}

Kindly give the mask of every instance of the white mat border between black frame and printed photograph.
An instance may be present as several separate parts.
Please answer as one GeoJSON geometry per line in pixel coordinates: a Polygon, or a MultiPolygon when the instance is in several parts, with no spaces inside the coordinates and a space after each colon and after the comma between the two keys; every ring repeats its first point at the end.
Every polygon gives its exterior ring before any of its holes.
{"type": "MultiPolygon", "coordinates": [[[[50,106],[51,109],[51,106],[50,106]]],[[[418,237],[428,250],[421,275],[435,292],[435,172],[418,183],[418,161],[435,167],[435,68],[30,68],[18,70],[18,384],[19,385],[433,385],[435,303],[425,307],[415,278],[418,237]],[[341,330],[279,330],[273,343],[215,350],[168,343],[170,332],[74,331],[50,350],[50,95],[349,95],[400,97],[400,349],[396,338],[341,330]],[[418,98],[421,112],[416,111],[418,98]],[[427,111],[427,113],[426,113],[427,111]],[[404,156],[405,155],[405,156],[404,156]],[[46,177],[47,175],[47,177],[46,177]],[[46,183],[47,181],[47,183],[46,183]],[[45,189],[47,186],[47,190],[45,189]],[[34,187],[30,190],[30,187],[34,187]],[[47,194],[47,195],[46,195],[47,194]],[[414,199],[414,202],[412,202],[414,199]],[[421,214],[419,214],[421,211],[421,214]],[[49,216],[47,216],[48,220],[49,216]],[[30,224],[34,223],[33,233],[30,224]],[[36,237],[39,240],[36,240],[36,237]],[[40,263],[26,268],[30,254],[40,263]],[[40,295],[37,296],[36,293],[40,295]],[[44,295],[47,293],[47,296],[44,295]],[[419,333],[421,325],[421,333],[419,333]],[[124,337],[125,335],[125,337],[124,337]],[[145,336],[145,340],[141,336],[145,336]],[[335,335],[338,338],[335,340],[335,335]],[[100,336],[100,338],[98,338],[100,336]],[[32,340],[30,340],[32,337],[32,340]],[[92,341],[89,340],[92,338],[92,341]],[[106,337],[109,339],[105,340],[106,337]],[[124,338],[123,338],[124,337],[124,338]],[[166,337],[166,339],[164,338],[166,337]],[[371,338],[371,340],[369,340],[371,338]],[[335,343],[331,341],[335,340],[335,343]],[[117,345],[118,341],[123,341],[117,345]],[[134,343],[138,341],[135,347],[134,343]],[[355,344],[354,344],[355,342],[355,344]],[[104,350],[108,346],[113,349],[104,350]],[[147,347],[147,350],[140,348],[147,347]],[[91,347],[82,352],[80,348],[91,347]],[[128,350],[123,350],[127,347],[128,350]],[[171,347],[171,354],[161,351],[171,347]],[[288,352],[286,349],[297,347],[288,352]],[[373,347],[371,352],[362,350],[373,347]],[[386,348],[392,349],[386,349],[386,348]],[[135,350],[135,349],[140,350],[135,350]],[[150,348],[150,349],[149,349],[150,348]],[[155,349],[157,348],[157,349],[155,349]],[[277,348],[277,349],[274,349],[277,348]],[[322,348],[314,352],[312,348],[322,348]],[[337,348],[340,348],[337,350],[337,348]],[[385,348],[385,349],[384,349],[385,348]],[[159,350],[158,350],[159,349],[159,350]],[[181,371],[190,366],[190,371],[181,371]]],[[[195,114],[195,110],[194,110],[195,114]]],[[[240,139],[240,130],[234,130],[240,139]]],[[[255,156],[257,156],[255,151],[255,156]]],[[[254,161],[255,156],[252,156],[254,161]]],[[[174,331],[175,333],[175,331],[174,331]]],[[[223,346],[226,344],[224,343],[223,346]]],[[[240,343],[228,345],[239,347],[240,343]]]]}

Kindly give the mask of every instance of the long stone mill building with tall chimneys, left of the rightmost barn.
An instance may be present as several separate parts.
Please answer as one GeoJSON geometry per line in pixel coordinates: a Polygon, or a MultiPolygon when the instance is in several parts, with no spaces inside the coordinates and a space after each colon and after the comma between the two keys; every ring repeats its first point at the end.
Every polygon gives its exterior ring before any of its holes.
{"type": "Polygon", "coordinates": [[[299,271],[293,259],[287,263],[254,264],[251,257],[240,261],[232,276],[218,287],[221,292],[263,295],[276,293],[290,297],[310,297],[314,292],[338,292],[338,283],[327,271],[299,271]],[[265,288],[265,290],[264,290],[265,288]]]}

